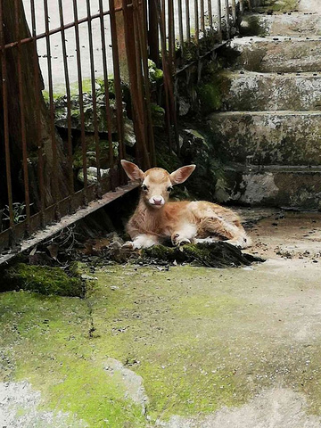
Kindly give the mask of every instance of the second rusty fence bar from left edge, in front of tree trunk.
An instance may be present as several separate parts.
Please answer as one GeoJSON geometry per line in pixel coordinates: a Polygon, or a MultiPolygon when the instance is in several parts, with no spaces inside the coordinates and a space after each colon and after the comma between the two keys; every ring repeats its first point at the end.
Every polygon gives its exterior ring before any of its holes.
{"type": "Polygon", "coordinates": [[[27,233],[29,234],[30,227],[30,197],[29,197],[29,173],[28,173],[28,150],[27,150],[27,136],[26,136],[26,121],[24,112],[24,94],[22,84],[22,66],[21,66],[21,40],[19,34],[19,23],[21,18],[21,3],[14,0],[15,7],[15,30],[16,40],[18,42],[18,55],[17,55],[17,69],[18,69],[18,86],[19,86],[19,103],[21,106],[21,143],[22,143],[22,169],[23,169],[23,183],[26,203],[26,220],[27,220],[27,233]]]}

